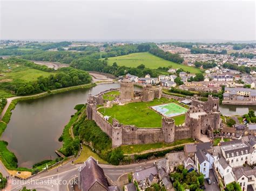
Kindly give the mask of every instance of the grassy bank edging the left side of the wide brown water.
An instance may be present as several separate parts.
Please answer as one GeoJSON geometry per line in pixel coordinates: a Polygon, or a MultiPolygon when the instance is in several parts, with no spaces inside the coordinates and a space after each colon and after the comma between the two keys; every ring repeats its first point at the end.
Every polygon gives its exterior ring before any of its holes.
{"type": "MultiPolygon", "coordinates": [[[[7,126],[7,124],[9,123],[9,121],[11,119],[11,114],[12,114],[11,111],[15,109],[16,104],[19,101],[33,100],[33,99],[37,99],[37,98],[41,98],[41,97],[45,97],[45,96],[50,96],[50,95],[53,95],[53,94],[63,93],[65,91],[81,89],[81,88],[91,88],[91,87],[94,87],[94,86],[96,86],[95,83],[84,84],[84,85],[75,86],[75,87],[68,87],[68,88],[52,90],[52,91],[48,91],[48,92],[38,94],[38,95],[19,97],[15,100],[12,100],[8,109],[6,110],[6,112],[5,112],[5,114],[2,118],[2,121],[0,122],[0,137],[2,136],[2,133],[6,129],[6,126],[7,126]]],[[[48,161],[48,162],[46,162],[44,164],[41,164],[41,165],[38,165],[38,166],[36,166],[36,168],[32,168],[32,169],[18,167],[18,165],[17,165],[18,160],[17,160],[15,154],[8,150],[7,145],[8,145],[7,142],[0,141],[0,159],[3,162],[4,166],[6,168],[8,168],[9,170],[29,171],[29,172],[35,173],[35,172],[41,171],[45,167],[46,164],[48,164],[48,163],[49,164],[55,164],[57,162],[57,161],[48,161]]]]}

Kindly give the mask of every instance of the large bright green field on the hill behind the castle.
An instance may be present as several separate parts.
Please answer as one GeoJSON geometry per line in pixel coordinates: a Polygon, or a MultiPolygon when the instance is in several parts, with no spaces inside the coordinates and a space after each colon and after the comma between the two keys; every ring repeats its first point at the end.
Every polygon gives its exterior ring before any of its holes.
{"type": "Polygon", "coordinates": [[[152,68],[152,69],[157,69],[158,67],[172,66],[172,68],[175,68],[175,69],[182,68],[185,71],[188,71],[190,73],[201,73],[201,71],[198,68],[180,65],[175,62],[164,60],[159,58],[158,56],[150,54],[149,52],[133,53],[133,54],[123,55],[123,56],[111,57],[111,58],[108,58],[107,62],[109,63],[109,65],[112,65],[113,62],[117,62],[118,66],[127,66],[127,67],[137,67],[141,64],[144,64],[147,68],[152,68]]]}

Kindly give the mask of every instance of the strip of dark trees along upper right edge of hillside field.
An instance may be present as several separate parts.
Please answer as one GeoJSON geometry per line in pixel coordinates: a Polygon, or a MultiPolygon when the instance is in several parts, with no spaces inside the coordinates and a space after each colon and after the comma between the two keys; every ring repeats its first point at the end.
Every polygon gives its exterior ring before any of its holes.
{"type": "Polygon", "coordinates": [[[182,63],[184,59],[179,54],[172,54],[170,52],[164,52],[159,48],[151,48],[149,52],[153,55],[156,55],[162,59],[169,60],[172,62],[182,63]]]}

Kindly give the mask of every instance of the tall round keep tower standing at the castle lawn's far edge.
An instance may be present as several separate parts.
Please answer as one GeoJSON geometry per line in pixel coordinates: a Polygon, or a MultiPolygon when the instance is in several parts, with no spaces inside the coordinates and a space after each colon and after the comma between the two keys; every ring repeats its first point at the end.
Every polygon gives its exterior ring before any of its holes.
{"type": "Polygon", "coordinates": [[[131,100],[134,97],[133,83],[130,81],[121,81],[120,98],[121,100],[131,100]]]}

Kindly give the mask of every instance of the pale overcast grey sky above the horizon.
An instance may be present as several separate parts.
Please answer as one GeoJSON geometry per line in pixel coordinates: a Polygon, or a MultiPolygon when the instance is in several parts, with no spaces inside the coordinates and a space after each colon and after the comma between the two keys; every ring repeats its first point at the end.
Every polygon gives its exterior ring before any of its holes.
{"type": "Polygon", "coordinates": [[[0,39],[255,40],[255,1],[0,0],[0,39]]]}

